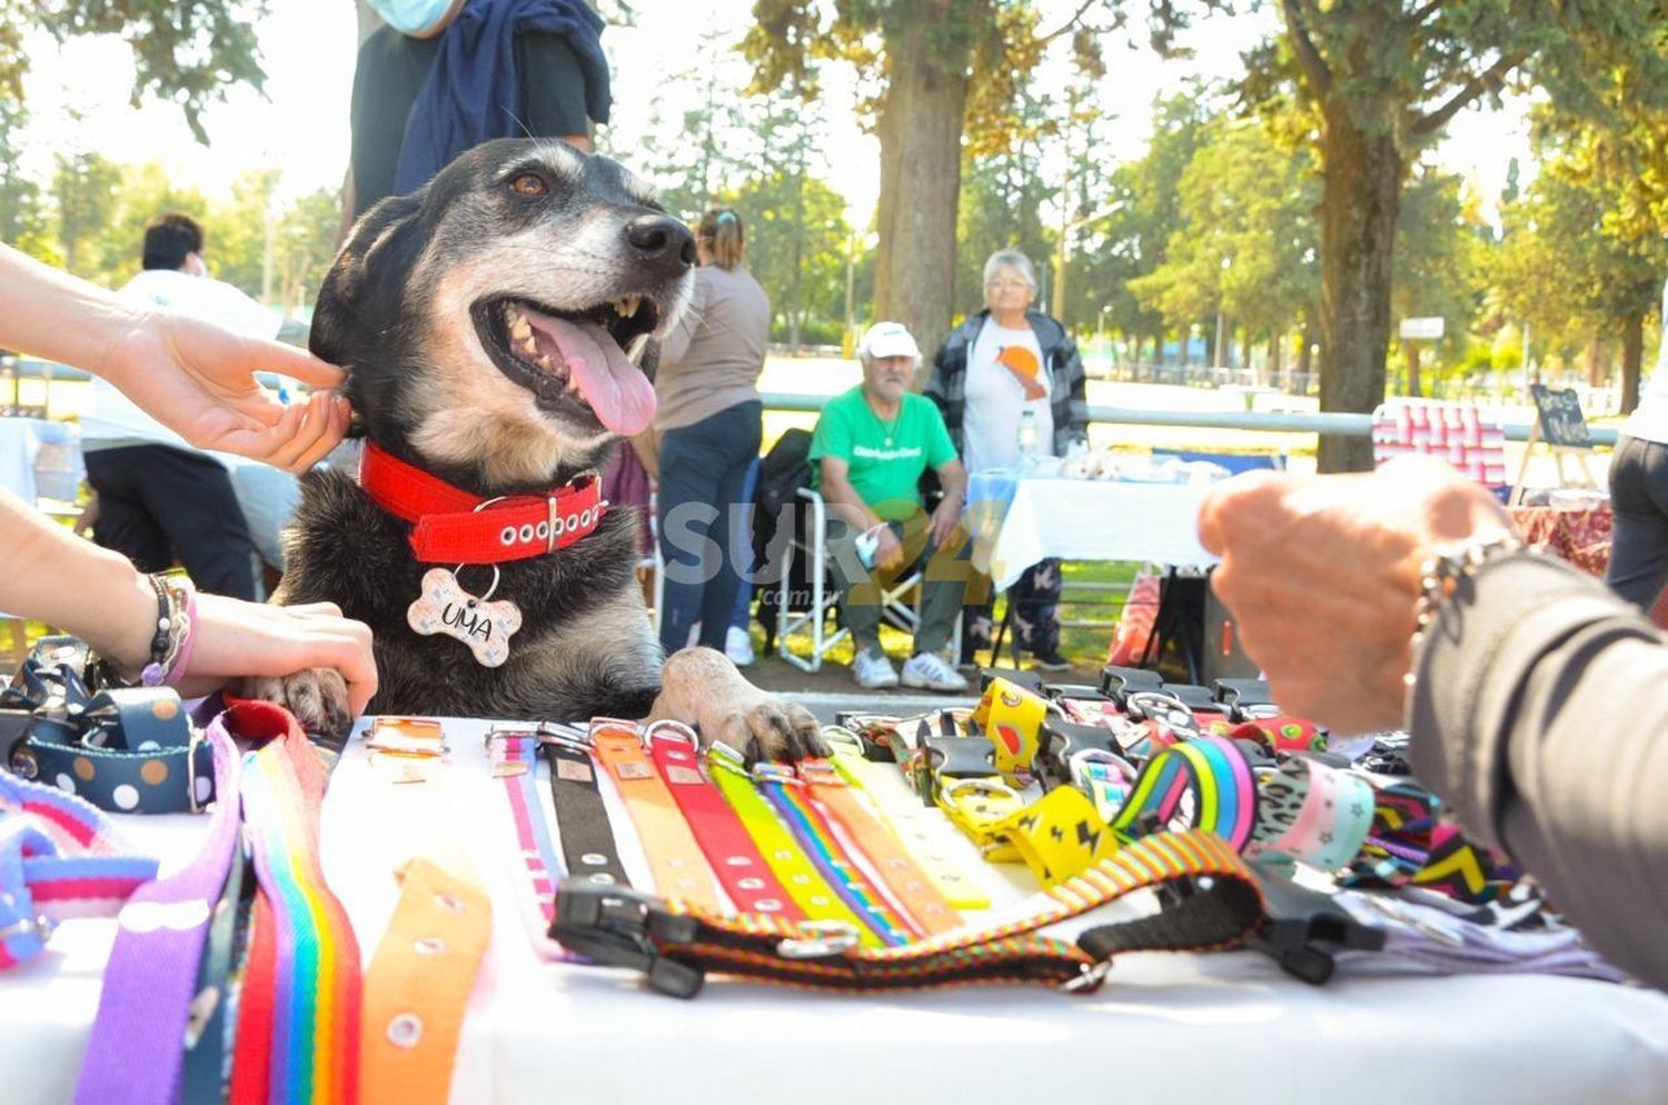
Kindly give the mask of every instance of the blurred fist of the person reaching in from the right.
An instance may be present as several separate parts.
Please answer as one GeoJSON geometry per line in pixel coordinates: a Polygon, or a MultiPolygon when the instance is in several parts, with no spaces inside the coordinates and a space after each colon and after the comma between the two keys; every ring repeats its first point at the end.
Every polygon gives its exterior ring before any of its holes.
{"type": "Polygon", "coordinates": [[[1423,563],[1510,530],[1493,495],[1409,457],[1373,475],[1243,475],[1199,508],[1213,587],[1276,702],[1344,733],[1403,723],[1423,563]]]}

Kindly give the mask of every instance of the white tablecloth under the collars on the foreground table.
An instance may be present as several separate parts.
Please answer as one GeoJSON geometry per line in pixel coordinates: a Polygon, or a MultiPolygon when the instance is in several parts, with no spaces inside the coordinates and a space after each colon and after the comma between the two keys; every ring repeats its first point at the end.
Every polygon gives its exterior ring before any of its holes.
{"type": "MultiPolygon", "coordinates": [[[[372,777],[355,742],[324,813],[325,873],[369,960],[414,850],[472,857],[495,903],[455,1105],[544,1102],[1605,1102],[1668,1100],[1668,997],[1540,977],[1338,977],[1309,987],[1249,953],[1134,955],[1093,997],[956,990],[872,998],[709,982],[691,1003],[636,977],[539,960],[510,908],[509,813],[482,722],[447,722],[435,792],[372,777]],[[435,817],[435,810],[445,810],[435,817]]],[[[540,787],[547,795],[547,788],[540,787]]],[[[899,802],[912,800],[897,785],[899,802]]],[[[545,798],[549,800],[549,798],[545,798]]],[[[612,800],[612,797],[609,797],[612,800]]],[[[203,822],[122,817],[178,862],[203,822]]],[[[615,822],[624,823],[624,822],[615,822]]],[[[636,875],[641,857],[624,850],[636,875]]],[[[976,868],[999,902],[1004,868],[976,868]]],[[[1101,918],[1104,920],[1104,917],[1101,918]]],[[[113,922],[67,922],[0,975],[0,1100],[67,1102],[113,922]]]]}

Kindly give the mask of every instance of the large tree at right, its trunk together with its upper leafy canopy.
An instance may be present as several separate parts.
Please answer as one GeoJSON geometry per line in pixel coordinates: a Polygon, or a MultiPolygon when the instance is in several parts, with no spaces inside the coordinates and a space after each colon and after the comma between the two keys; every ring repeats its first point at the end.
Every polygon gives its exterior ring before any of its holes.
{"type": "MultiPolygon", "coordinates": [[[[1176,15],[1259,0],[1166,0],[1176,15]]],[[[1396,212],[1408,167],[1461,110],[1511,83],[1573,113],[1606,97],[1668,97],[1663,0],[1279,0],[1283,33],[1251,57],[1253,100],[1303,107],[1324,172],[1321,405],[1371,410],[1384,393],[1396,212]]],[[[1354,438],[1323,438],[1321,468],[1369,467],[1354,438]]]]}

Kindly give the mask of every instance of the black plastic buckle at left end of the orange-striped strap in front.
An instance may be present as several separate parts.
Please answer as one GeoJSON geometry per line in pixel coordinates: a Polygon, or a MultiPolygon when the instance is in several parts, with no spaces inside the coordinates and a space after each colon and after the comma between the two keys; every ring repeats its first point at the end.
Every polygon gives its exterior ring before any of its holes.
{"type": "Polygon", "coordinates": [[[600,967],[641,970],[651,988],[674,998],[701,993],[706,972],[661,955],[649,933],[669,943],[691,943],[699,932],[696,918],[669,913],[639,890],[584,878],[564,878],[555,890],[552,940],[600,967]]]}

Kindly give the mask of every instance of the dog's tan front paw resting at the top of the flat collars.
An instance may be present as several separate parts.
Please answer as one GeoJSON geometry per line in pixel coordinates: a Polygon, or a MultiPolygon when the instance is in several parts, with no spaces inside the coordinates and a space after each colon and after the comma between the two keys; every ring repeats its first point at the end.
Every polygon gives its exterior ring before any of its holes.
{"type": "Polygon", "coordinates": [[[649,720],[676,720],[701,733],[701,745],[722,740],[756,760],[826,757],[822,727],[804,707],[749,683],[722,652],[682,648],[661,672],[661,697],[649,720]]]}

